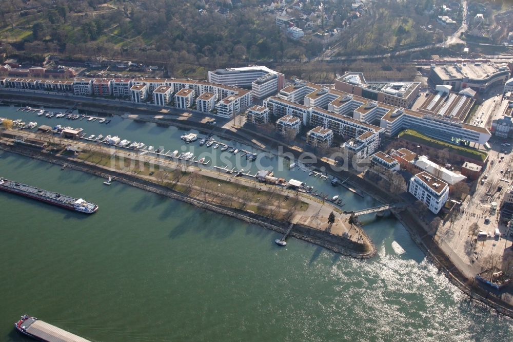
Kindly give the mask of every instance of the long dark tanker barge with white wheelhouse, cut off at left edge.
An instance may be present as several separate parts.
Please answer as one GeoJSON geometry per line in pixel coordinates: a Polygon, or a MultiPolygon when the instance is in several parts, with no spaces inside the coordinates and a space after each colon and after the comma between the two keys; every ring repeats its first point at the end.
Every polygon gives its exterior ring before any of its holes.
{"type": "Polygon", "coordinates": [[[82,198],[69,197],[5,178],[0,178],[0,190],[61,206],[79,213],[92,214],[98,210],[96,204],[87,202],[82,198]]]}

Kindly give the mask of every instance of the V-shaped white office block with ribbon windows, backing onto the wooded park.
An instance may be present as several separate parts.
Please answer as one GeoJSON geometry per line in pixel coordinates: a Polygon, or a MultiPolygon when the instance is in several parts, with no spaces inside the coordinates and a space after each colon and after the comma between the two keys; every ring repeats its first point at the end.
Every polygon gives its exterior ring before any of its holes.
{"type": "Polygon", "coordinates": [[[208,81],[232,87],[250,87],[253,96],[262,99],[277,93],[285,84],[285,75],[265,66],[250,65],[243,68],[226,68],[208,72],[208,81]]]}

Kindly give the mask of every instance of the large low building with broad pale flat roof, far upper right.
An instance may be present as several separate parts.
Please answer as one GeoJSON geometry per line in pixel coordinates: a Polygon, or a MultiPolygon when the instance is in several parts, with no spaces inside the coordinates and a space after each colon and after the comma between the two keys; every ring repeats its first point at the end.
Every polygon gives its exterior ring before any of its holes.
{"type": "Polygon", "coordinates": [[[508,66],[494,63],[433,64],[429,73],[430,82],[449,85],[453,91],[469,87],[486,92],[494,86],[505,84],[508,78],[508,66]]]}

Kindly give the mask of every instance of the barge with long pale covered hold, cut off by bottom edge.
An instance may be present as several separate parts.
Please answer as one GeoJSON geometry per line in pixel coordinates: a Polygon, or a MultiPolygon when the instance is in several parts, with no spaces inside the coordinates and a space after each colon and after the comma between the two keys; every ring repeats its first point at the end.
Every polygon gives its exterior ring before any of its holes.
{"type": "Polygon", "coordinates": [[[89,340],[57,328],[29,315],[24,315],[14,323],[16,329],[32,338],[48,342],[90,342],[89,340]]]}

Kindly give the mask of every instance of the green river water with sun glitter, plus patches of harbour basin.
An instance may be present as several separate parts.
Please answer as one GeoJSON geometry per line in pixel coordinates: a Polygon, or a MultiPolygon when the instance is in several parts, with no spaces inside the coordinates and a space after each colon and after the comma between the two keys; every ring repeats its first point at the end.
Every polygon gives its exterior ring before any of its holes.
{"type": "MultiPolygon", "coordinates": [[[[181,135],[122,124],[149,143],[181,135]]],[[[24,339],[13,323],[25,313],[95,341],[488,341],[513,333],[511,319],[469,302],[392,218],[364,218],[379,254],[357,260],[295,239],[280,248],[280,235],[260,226],[25,157],[1,154],[0,174],[100,206],[85,216],[0,193],[0,340],[24,339]]],[[[337,192],[348,207],[374,203],[337,192]]]]}

